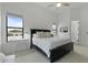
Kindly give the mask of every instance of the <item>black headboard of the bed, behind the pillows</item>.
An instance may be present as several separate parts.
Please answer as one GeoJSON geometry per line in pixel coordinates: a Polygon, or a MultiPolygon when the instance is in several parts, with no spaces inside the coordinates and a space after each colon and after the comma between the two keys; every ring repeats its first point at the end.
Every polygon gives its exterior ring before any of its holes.
{"type": "Polygon", "coordinates": [[[50,30],[30,29],[30,47],[32,48],[32,36],[36,32],[51,32],[50,30]]]}

